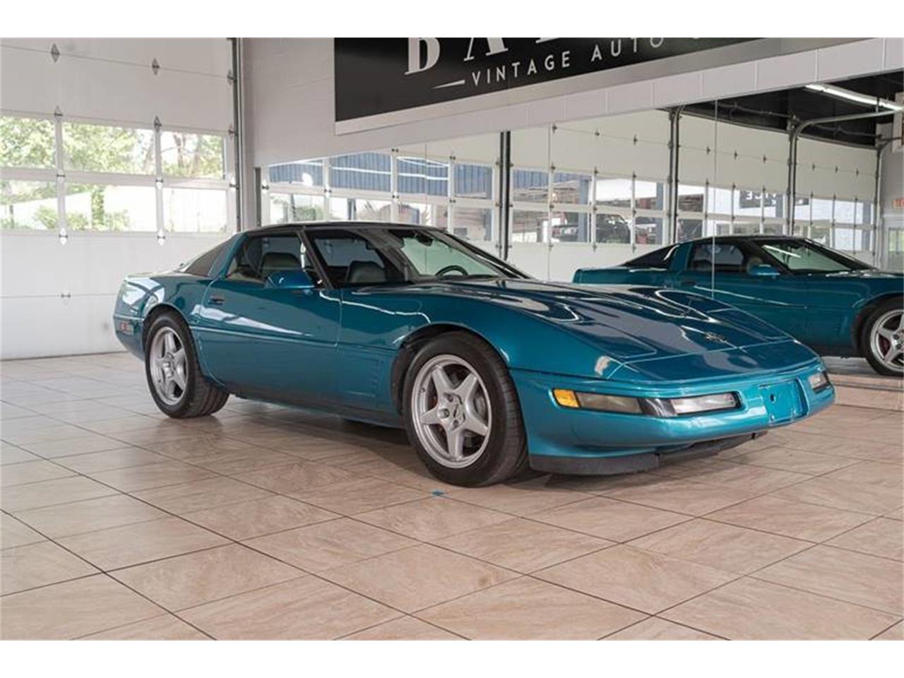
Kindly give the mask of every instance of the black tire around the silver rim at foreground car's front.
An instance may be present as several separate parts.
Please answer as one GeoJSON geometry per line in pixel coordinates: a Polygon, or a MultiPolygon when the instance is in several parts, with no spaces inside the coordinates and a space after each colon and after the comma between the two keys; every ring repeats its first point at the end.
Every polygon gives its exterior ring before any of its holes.
{"type": "Polygon", "coordinates": [[[527,437],[518,393],[508,368],[492,346],[473,334],[440,334],[420,347],[408,366],[402,386],[402,414],[411,445],[430,473],[450,485],[494,485],[517,476],[527,467],[527,437]],[[484,381],[493,412],[486,447],[476,461],[464,468],[443,466],[421,443],[413,418],[415,381],[421,368],[438,355],[453,355],[469,363],[484,381]]]}

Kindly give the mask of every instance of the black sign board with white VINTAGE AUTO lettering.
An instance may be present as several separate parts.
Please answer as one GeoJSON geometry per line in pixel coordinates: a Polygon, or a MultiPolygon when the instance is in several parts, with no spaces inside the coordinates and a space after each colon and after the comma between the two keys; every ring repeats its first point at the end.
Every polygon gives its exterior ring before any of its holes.
{"type": "Polygon", "coordinates": [[[336,122],[756,38],[335,38],[336,122]]]}

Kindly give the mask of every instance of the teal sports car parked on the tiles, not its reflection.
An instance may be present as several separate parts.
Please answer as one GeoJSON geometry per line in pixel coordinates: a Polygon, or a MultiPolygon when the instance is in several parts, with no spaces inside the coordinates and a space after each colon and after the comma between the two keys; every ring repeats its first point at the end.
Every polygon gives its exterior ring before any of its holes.
{"type": "Polygon", "coordinates": [[[240,233],[127,278],[114,322],[171,417],[233,394],[405,428],[457,485],[715,454],[834,399],[815,353],[720,301],[541,283],[393,224],[240,233]]]}

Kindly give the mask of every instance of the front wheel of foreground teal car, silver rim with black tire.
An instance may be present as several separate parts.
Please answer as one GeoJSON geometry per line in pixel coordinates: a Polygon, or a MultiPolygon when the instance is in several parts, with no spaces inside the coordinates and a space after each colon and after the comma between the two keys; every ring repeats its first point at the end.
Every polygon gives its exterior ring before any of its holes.
{"type": "Polygon", "coordinates": [[[408,437],[440,480],[492,485],[526,466],[518,395],[505,363],[484,341],[464,332],[430,340],[403,388],[408,437]]]}

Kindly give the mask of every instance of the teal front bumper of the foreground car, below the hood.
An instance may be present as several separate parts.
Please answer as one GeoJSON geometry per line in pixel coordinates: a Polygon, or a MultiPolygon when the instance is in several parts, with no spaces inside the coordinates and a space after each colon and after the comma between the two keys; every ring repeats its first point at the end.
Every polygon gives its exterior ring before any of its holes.
{"type": "Polygon", "coordinates": [[[679,382],[629,382],[560,377],[513,370],[527,431],[531,466],[557,473],[609,474],[658,466],[675,455],[705,456],[823,410],[830,384],[814,391],[808,377],[822,361],[747,376],[679,382]],[[552,389],[638,398],[680,398],[732,391],[739,407],[681,417],[653,417],[561,407],[552,389]],[[634,458],[628,458],[634,457],[634,458]]]}

